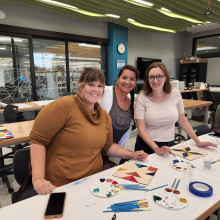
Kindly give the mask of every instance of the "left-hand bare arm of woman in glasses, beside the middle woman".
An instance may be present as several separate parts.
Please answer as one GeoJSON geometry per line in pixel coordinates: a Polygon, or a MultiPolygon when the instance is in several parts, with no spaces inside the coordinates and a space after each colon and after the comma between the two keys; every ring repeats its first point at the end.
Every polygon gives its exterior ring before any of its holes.
{"type": "Polygon", "coordinates": [[[158,147],[158,145],[153,141],[151,136],[146,130],[146,124],[144,119],[137,119],[137,129],[138,133],[143,139],[143,141],[151,147],[151,149],[158,155],[165,154],[170,155],[171,150],[168,146],[158,147]]]}

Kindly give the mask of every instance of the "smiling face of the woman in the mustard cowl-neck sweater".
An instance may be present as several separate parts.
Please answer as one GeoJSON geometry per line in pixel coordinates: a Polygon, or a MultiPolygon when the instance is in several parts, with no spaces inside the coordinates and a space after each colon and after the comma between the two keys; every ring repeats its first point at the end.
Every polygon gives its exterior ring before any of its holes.
{"type": "Polygon", "coordinates": [[[80,94],[86,102],[90,111],[94,111],[94,105],[102,97],[104,85],[100,80],[85,83],[80,94]]]}

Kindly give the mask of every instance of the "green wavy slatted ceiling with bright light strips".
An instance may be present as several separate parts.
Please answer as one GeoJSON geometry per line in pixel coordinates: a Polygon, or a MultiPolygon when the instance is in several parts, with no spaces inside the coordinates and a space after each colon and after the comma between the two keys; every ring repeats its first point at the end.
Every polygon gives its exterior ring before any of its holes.
{"type": "Polygon", "coordinates": [[[192,31],[192,26],[204,26],[203,30],[206,30],[210,29],[210,24],[206,22],[216,23],[218,28],[220,22],[220,0],[210,0],[210,9],[214,13],[206,16],[204,13],[208,10],[209,0],[148,0],[153,6],[142,4],[145,0],[142,3],[135,0],[7,0],[9,1],[44,8],[73,18],[100,19],[142,31],[176,33],[192,31]],[[162,7],[171,12],[161,10],[162,7]],[[120,17],[113,18],[106,14],[120,17]]]}

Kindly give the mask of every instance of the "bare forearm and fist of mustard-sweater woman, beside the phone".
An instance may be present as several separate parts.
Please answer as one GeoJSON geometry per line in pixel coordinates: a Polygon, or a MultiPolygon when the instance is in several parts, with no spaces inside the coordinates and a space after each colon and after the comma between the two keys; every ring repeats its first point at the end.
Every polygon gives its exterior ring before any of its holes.
{"type": "Polygon", "coordinates": [[[40,144],[31,144],[32,182],[38,194],[47,194],[56,188],[45,179],[46,149],[40,144]]]}

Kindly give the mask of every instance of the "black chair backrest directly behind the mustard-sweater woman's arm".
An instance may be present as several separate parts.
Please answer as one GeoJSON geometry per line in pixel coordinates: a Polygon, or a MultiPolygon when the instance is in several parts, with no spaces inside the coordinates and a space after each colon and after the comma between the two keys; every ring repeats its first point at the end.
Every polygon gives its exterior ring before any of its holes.
{"type": "Polygon", "coordinates": [[[29,172],[30,148],[16,151],[13,158],[15,180],[21,185],[29,172]]]}

